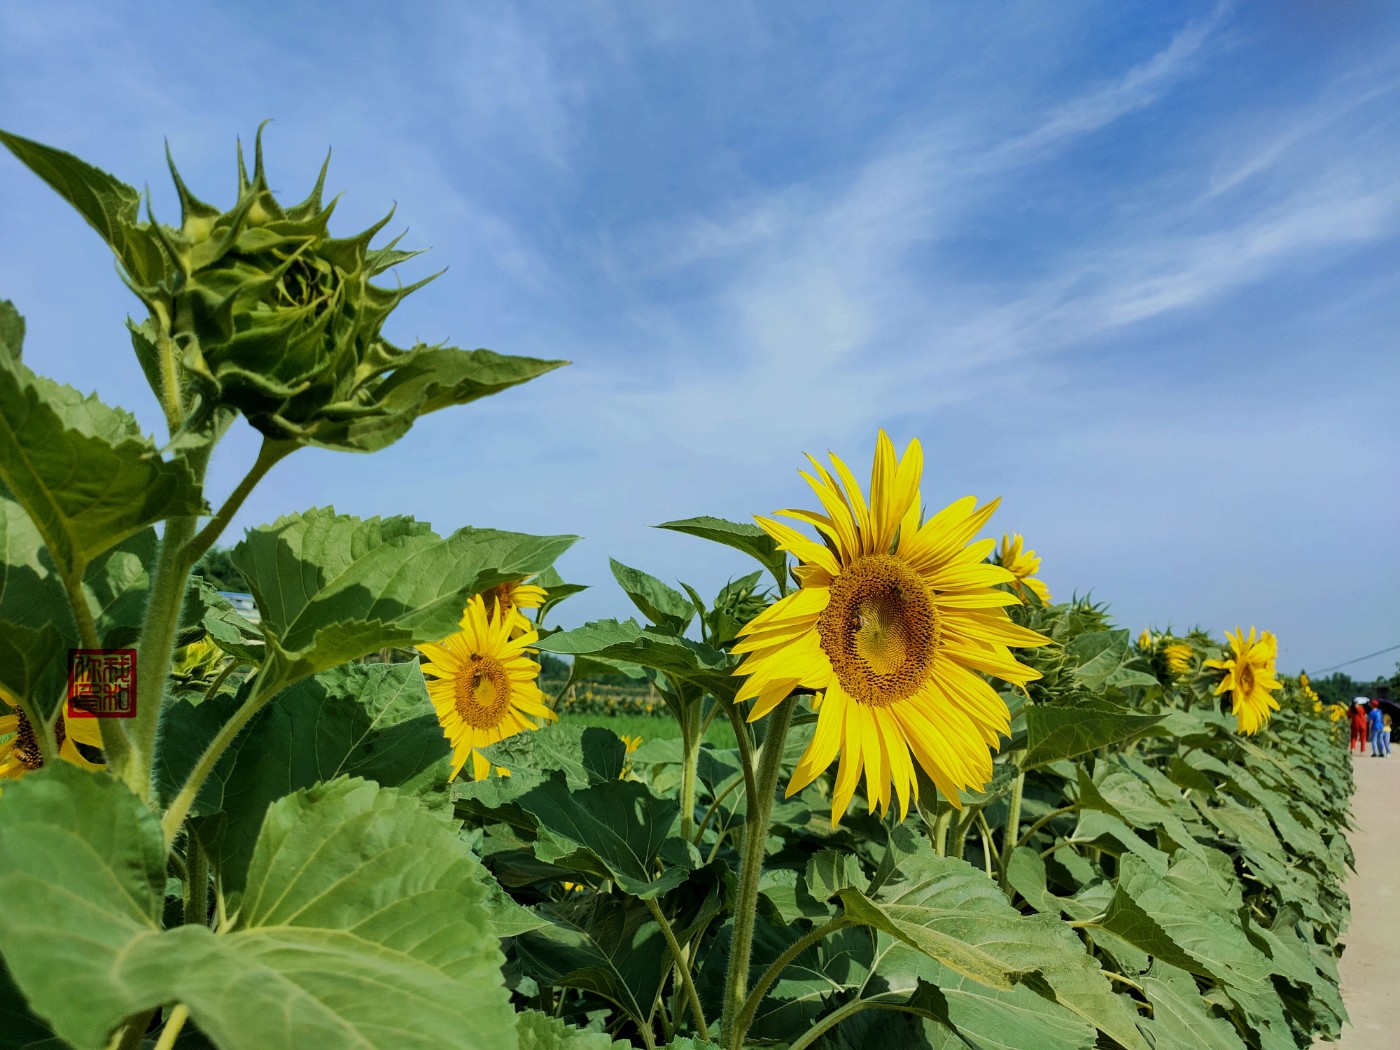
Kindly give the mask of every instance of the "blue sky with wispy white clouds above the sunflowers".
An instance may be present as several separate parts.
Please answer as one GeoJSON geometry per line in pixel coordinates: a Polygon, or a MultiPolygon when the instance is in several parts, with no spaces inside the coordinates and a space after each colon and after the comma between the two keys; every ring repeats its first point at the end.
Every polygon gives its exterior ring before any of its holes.
{"type": "MultiPolygon", "coordinates": [[[[235,536],[328,503],[577,532],[563,620],[626,616],[609,556],[749,571],[648,525],[809,505],[801,454],[868,463],[883,426],[931,508],[1001,496],[1057,596],[1319,669],[1400,643],[1397,13],[20,0],[0,126],[172,218],[162,141],[227,206],[273,118],[287,199],[333,147],[339,228],[396,202],[433,249],[406,279],[448,267],[391,337],[574,361],[374,456],[298,452],[235,536]]],[[[0,245],[27,360],[155,430],[139,304],[8,155],[0,245]]]]}

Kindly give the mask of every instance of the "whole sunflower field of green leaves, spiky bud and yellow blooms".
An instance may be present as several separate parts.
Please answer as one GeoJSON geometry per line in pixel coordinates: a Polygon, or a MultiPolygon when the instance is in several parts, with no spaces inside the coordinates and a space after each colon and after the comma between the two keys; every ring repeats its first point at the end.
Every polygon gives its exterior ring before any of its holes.
{"type": "Polygon", "coordinates": [[[192,570],[269,469],[564,363],[388,343],[413,252],[279,203],[260,143],[227,210],[172,164],[165,225],[0,141],[115,253],[169,431],[32,371],[0,302],[0,1047],[1336,1037],[1351,766],[1268,631],[1053,601],[883,433],[809,508],[662,525],[731,549],[710,598],[613,563],[629,619],[552,629],[573,536],[311,508],[234,545],[245,616],[192,570]]]}

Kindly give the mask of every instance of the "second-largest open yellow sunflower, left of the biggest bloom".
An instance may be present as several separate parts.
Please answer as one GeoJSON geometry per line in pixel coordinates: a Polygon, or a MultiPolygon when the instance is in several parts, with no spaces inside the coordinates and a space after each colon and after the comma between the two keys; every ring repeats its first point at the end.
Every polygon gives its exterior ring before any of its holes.
{"type": "Polygon", "coordinates": [[[437,708],[442,735],[452,745],[452,776],[472,759],[472,778],[489,776],[491,763],[477,748],[538,728],[535,718],[553,721],[535,679],[539,664],[526,648],[535,631],[511,638],[511,622],[500,606],[487,613],[482,595],[462,613],[462,630],[440,643],[419,645],[428,699],[437,708]]]}

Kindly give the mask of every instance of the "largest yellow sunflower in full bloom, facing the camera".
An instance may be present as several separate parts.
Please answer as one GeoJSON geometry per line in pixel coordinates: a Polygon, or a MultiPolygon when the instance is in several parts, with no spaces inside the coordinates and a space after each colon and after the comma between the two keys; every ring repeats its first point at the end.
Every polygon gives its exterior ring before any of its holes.
{"type": "Polygon", "coordinates": [[[816,528],[822,542],[767,519],[755,521],[798,560],[799,589],[763,610],[734,647],[746,675],[738,701],[753,699],[762,718],[795,689],[823,693],[816,732],[787,794],[819,777],[837,755],[832,823],[850,806],[865,771],[872,809],[885,812],[890,785],[900,816],[918,797],[914,762],[959,805],[958,791],[991,778],[991,748],[1009,729],[1005,701],[979,672],[1016,685],[1040,678],[1016,662],[1009,645],[1050,640],[1007,616],[1015,577],[987,561],[995,540],[970,542],[997,507],[966,497],[923,519],[918,482],[923,451],[902,458],[879,433],[865,503],[836,455],[837,482],[812,456],[802,472],[826,514],[778,511],[816,528]]]}

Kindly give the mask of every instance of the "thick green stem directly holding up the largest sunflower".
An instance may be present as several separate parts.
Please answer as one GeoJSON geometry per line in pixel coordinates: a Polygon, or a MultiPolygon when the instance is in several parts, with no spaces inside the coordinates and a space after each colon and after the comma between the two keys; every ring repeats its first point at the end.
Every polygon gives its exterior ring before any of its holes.
{"type": "Polygon", "coordinates": [[[743,1002],[749,994],[749,956],[753,951],[753,923],[759,910],[759,878],[763,875],[763,853],[769,839],[769,818],[773,795],[777,792],[783,769],[783,745],[797,697],[790,696],[769,715],[769,732],[759,753],[759,769],[743,827],[743,855],[739,862],[739,892],[734,904],[734,942],[729,949],[729,969],[724,980],[724,1040],[731,1050],[743,1050],[745,1026],[741,1023],[743,1002]]]}

